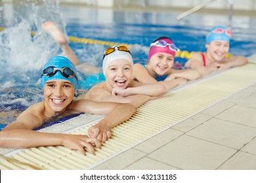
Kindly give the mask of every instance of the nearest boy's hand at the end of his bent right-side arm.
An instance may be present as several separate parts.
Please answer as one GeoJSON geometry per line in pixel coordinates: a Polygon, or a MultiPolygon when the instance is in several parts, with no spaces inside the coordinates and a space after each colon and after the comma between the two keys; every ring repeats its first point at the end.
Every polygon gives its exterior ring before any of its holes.
{"type": "Polygon", "coordinates": [[[96,138],[98,141],[106,142],[111,137],[110,127],[108,125],[98,123],[88,129],[89,137],[96,138]]]}

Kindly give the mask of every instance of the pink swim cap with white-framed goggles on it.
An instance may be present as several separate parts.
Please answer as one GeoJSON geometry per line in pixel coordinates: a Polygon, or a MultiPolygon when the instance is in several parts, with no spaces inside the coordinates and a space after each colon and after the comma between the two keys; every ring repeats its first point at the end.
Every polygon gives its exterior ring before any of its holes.
{"type": "Polygon", "coordinates": [[[150,59],[154,54],[166,53],[171,54],[175,58],[175,53],[179,51],[179,48],[173,44],[173,41],[168,38],[158,39],[157,41],[150,44],[150,51],[148,53],[148,59],[150,59]]]}

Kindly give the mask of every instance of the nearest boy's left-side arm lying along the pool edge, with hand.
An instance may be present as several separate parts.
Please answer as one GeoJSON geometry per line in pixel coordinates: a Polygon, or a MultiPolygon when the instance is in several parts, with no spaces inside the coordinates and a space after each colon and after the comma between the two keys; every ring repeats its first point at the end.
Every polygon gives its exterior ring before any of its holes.
{"type": "Polygon", "coordinates": [[[33,131],[34,127],[42,124],[40,118],[33,114],[25,114],[15,122],[0,131],[0,147],[2,148],[32,148],[37,146],[65,146],[79,150],[85,154],[85,148],[95,153],[91,144],[100,148],[100,142],[87,135],[67,135],[60,133],[42,133],[33,131]]]}

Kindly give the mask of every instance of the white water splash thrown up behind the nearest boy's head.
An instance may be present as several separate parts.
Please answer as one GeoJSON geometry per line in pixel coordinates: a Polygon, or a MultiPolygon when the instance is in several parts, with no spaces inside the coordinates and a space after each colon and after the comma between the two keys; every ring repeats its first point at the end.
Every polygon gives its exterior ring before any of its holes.
{"type": "Polygon", "coordinates": [[[8,17],[12,20],[4,18],[5,22],[14,24],[8,24],[0,32],[0,61],[3,66],[0,68],[0,84],[4,87],[24,83],[34,85],[45,61],[58,54],[56,42],[41,28],[43,22],[53,20],[64,31],[65,24],[58,10],[58,1],[35,1],[30,5],[29,1],[19,2],[18,11],[14,7],[12,13],[9,12],[8,17]],[[35,35],[32,36],[32,32],[35,35]]]}

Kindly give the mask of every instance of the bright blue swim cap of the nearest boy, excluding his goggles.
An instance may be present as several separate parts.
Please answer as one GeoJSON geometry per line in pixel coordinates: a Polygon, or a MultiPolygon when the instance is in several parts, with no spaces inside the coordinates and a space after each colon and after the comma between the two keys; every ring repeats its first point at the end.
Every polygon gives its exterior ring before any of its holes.
{"type": "MultiPolygon", "coordinates": [[[[43,70],[45,68],[51,67],[51,66],[59,68],[59,69],[63,68],[63,67],[68,67],[75,73],[75,76],[77,76],[77,71],[75,69],[75,65],[72,63],[72,61],[70,61],[68,58],[65,58],[63,56],[56,56],[56,57],[49,59],[47,61],[47,63],[45,63],[43,70]]],[[[42,73],[43,73],[43,71],[42,71],[42,73]]],[[[55,75],[53,75],[53,76],[41,75],[42,88],[43,88],[43,86],[45,86],[45,82],[47,82],[47,80],[68,80],[68,81],[72,82],[74,88],[76,88],[76,86],[77,86],[77,79],[75,77],[66,78],[65,76],[62,75],[62,73],[60,73],[60,71],[56,71],[55,75]]]]}

